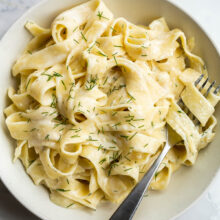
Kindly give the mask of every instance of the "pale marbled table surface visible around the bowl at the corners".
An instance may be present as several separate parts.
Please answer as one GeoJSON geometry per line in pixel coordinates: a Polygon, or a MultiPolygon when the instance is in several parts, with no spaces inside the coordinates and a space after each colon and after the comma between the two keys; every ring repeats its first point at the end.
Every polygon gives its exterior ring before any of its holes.
{"type": "MultiPolygon", "coordinates": [[[[220,0],[170,0],[184,9],[206,30],[220,50],[220,0]]],[[[0,0],[0,38],[7,29],[39,0],[0,0]]],[[[39,220],[7,191],[0,181],[0,219],[39,220]]],[[[220,172],[209,189],[175,220],[220,219],[220,172]]]]}

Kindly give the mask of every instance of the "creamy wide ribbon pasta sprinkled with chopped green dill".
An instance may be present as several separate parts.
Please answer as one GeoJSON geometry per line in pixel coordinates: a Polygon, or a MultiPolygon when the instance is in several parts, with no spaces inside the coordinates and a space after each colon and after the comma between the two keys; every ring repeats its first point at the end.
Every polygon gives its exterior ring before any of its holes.
{"type": "Polygon", "coordinates": [[[174,147],[150,188],[162,190],[181,165],[193,165],[214,137],[220,96],[179,29],[164,18],[148,27],[114,18],[100,0],[61,13],[46,29],[29,21],[33,35],[12,68],[6,124],[36,185],[63,207],[96,209],[121,202],[163,149],[165,124],[174,147]],[[199,120],[180,107],[182,99],[199,120]]]}

